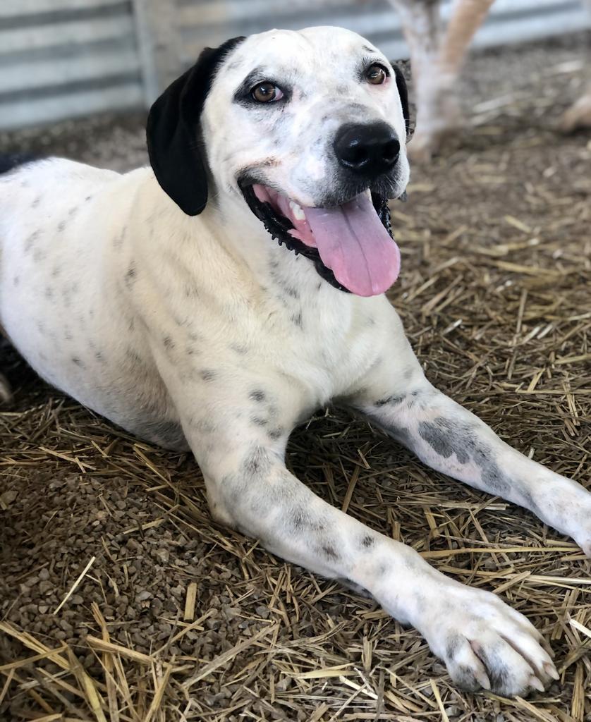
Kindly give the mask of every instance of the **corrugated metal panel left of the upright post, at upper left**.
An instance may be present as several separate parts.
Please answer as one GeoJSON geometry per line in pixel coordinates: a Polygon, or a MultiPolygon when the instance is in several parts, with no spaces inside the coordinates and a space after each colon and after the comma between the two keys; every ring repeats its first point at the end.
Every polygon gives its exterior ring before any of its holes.
{"type": "Polygon", "coordinates": [[[129,0],[0,1],[0,129],[145,105],[129,0]]]}

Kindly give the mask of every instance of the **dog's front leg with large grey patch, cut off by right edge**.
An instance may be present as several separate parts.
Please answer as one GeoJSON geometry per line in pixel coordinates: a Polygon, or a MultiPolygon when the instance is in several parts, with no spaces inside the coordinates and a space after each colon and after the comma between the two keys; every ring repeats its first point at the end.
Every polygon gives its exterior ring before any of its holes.
{"type": "Polygon", "coordinates": [[[591,494],[504,443],[426,380],[410,349],[404,374],[382,371],[353,400],[437,471],[529,509],[591,556],[591,494]]]}

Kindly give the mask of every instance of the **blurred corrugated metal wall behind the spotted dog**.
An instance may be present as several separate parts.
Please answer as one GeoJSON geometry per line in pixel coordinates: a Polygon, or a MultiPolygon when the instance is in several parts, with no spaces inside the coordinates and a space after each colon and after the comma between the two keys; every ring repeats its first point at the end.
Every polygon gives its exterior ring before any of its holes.
{"type": "MultiPolygon", "coordinates": [[[[0,128],[145,107],[204,45],[306,25],[342,25],[391,58],[408,54],[387,0],[0,0],[0,128]]],[[[497,0],[475,44],[590,25],[580,0],[497,0]]]]}

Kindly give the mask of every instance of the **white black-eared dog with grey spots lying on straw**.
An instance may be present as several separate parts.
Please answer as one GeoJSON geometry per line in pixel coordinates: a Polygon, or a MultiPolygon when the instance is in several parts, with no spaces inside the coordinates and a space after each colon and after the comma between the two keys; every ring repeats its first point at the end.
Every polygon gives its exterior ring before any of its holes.
{"type": "Polygon", "coordinates": [[[551,650],[498,596],[314,495],[290,431],[346,404],[433,469],[522,505],[591,554],[591,494],[428,382],[384,292],[387,201],[409,178],[400,70],[353,32],[207,48],[150,110],[151,168],[69,160],[0,183],[0,321],[49,383],[134,435],[190,448],[212,516],[366,590],[467,690],[526,695],[551,650]]]}

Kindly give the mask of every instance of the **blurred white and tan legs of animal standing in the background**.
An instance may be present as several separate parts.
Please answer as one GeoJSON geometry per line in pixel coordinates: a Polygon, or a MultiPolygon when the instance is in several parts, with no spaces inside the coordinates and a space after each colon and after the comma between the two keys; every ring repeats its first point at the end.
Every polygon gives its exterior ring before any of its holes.
{"type": "MultiPolygon", "coordinates": [[[[454,0],[445,28],[439,0],[390,2],[400,14],[415,87],[416,130],[408,147],[409,155],[414,160],[429,160],[445,136],[462,125],[458,78],[470,42],[494,0],[454,0]]],[[[591,0],[584,2],[591,12],[591,0]]],[[[591,79],[586,92],[561,121],[564,131],[584,126],[591,126],[591,79]]]]}

